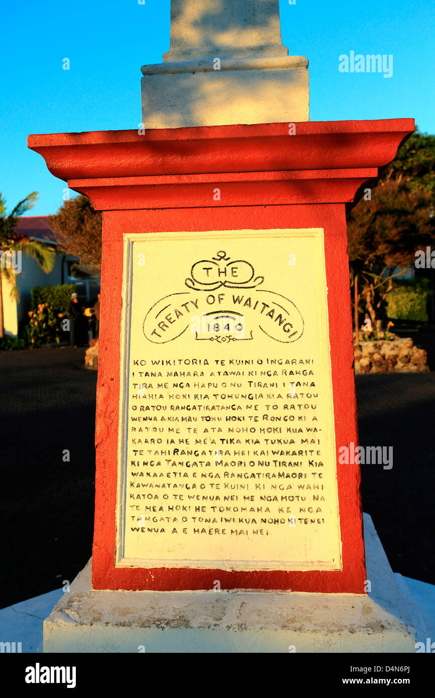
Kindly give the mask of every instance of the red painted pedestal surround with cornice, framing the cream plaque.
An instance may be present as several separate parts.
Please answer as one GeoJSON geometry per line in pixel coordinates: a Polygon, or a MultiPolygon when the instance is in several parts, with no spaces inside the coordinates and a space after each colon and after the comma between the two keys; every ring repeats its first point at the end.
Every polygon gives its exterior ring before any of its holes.
{"type": "Polygon", "coordinates": [[[219,579],[223,589],[365,593],[360,469],[338,463],[338,448],[357,443],[345,202],[394,158],[413,132],[413,120],[309,122],[296,124],[297,135],[284,138],[287,126],[159,129],[147,137],[135,131],[29,137],[29,147],[43,154],[52,172],[75,177],[68,185],[103,209],[92,563],[96,589],[200,590],[212,589],[219,579]],[[252,188],[254,182],[260,186],[252,188]],[[221,188],[221,201],[211,206],[214,186],[221,188]],[[237,230],[271,228],[325,232],[342,569],[115,567],[123,233],[235,230],[237,235],[237,230]]]}

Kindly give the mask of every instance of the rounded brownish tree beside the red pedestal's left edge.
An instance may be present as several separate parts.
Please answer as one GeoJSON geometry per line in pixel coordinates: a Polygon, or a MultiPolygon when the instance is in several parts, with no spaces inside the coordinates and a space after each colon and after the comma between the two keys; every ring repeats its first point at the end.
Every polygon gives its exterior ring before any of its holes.
{"type": "Polygon", "coordinates": [[[78,257],[84,265],[100,269],[102,219],[87,196],[80,194],[66,201],[48,221],[64,252],[78,257]]]}

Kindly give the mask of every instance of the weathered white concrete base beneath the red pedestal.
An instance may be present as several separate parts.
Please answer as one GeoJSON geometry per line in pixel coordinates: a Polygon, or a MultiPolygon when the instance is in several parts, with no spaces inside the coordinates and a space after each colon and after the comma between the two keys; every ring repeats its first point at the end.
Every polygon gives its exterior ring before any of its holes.
{"type": "Polygon", "coordinates": [[[370,517],[371,593],[92,591],[91,563],[44,622],[45,652],[415,652],[370,517]]]}

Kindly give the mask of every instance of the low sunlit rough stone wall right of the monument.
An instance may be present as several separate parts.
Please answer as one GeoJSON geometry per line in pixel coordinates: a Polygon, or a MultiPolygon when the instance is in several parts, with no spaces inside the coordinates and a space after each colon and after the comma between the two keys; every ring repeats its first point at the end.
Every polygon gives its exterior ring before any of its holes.
{"type": "Polygon", "coordinates": [[[427,354],[411,338],[354,343],[355,373],[427,373],[427,354]]]}

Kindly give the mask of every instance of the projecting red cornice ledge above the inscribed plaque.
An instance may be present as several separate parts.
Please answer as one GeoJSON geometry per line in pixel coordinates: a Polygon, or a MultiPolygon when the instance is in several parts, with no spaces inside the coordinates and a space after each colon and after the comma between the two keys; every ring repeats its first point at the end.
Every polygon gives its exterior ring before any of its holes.
{"type": "Polygon", "coordinates": [[[304,121],[29,135],[28,146],[100,210],[344,203],[413,131],[413,119],[304,121]]]}

